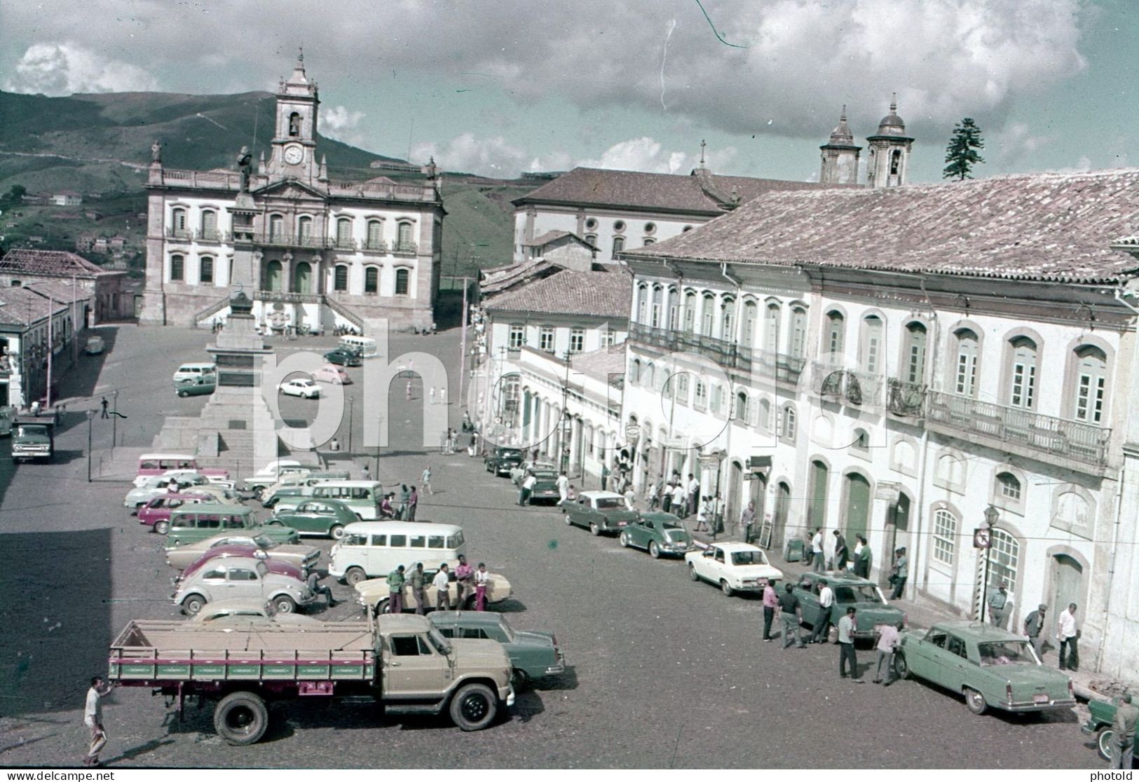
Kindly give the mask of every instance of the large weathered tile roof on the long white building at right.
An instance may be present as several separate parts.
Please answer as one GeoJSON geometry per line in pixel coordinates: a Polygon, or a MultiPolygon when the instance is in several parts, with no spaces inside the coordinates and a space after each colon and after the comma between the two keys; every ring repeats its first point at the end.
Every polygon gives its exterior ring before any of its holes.
{"type": "Polygon", "coordinates": [[[772,192],[624,255],[967,277],[1114,282],[1139,222],[1139,170],[772,192]]]}

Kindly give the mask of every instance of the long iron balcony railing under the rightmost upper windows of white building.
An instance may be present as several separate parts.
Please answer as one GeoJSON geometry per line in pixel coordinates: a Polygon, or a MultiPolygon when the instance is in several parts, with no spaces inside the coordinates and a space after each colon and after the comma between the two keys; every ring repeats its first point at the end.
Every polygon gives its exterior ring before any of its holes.
{"type": "Polygon", "coordinates": [[[1002,443],[1104,467],[1112,430],[969,396],[929,392],[926,419],[1002,443]]]}

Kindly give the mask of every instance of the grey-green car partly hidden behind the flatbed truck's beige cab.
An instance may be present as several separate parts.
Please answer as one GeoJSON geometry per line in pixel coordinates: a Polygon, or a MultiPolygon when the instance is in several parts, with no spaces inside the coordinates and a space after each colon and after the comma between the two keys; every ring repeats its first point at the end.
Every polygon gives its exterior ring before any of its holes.
{"type": "Polygon", "coordinates": [[[506,617],[492,611],[434,611],[431,623],[446,639],[489,639],[506,649],[514,668],[514,689],[533,678],[566,669],[565,655],[554,633],[515,629],[506,617]]]}

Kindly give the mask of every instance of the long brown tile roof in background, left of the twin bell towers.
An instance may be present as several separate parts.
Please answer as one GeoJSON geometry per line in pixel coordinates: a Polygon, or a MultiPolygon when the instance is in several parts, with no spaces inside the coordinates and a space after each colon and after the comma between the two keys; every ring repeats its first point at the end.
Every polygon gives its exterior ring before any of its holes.
{"type": "Polygon", "coordinates": [[[650,174],[641,171],[574,168],[511,203],[515,206],[527,203],[587,204],[714,215],[735,206],[730,203],[734,194],[741,203],[746,203],[764,192],[777,190],[834,187],[818,182],[721,176],[707,170],[697,170],[691,174],[650,174]]]}

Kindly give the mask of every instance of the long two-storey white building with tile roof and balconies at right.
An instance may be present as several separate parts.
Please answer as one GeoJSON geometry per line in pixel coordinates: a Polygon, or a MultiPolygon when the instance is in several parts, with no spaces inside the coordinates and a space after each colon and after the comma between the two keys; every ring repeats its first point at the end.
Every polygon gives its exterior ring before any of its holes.
{"type": "Polygon", "coordinates": [[[961,615],[1075,602],[1083,664],[1134,670],[1136,214],[1136,170],[772,192],[626,253],[637,484],[754,500],[776,550],[865,535],[876,578],[906,546],[961,615]]]}

